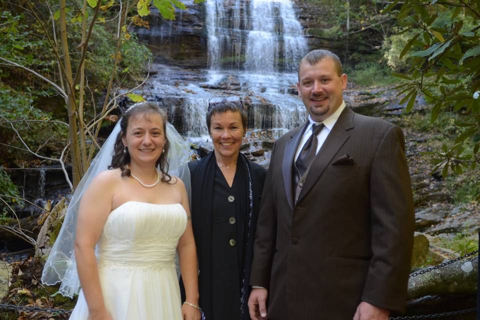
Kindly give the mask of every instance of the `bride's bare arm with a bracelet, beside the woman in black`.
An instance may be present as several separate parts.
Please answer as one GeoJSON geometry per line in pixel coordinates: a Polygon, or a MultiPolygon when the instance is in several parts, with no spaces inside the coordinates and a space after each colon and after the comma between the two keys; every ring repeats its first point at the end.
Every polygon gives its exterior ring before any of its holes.
{"type": "MultiPolygon", "coordinates": [[[[180,273],[185,287],[185,301],[189,304],[198,306],[198,264],[196,258],[195,239],[193,238],[193,231],[191,229],[190,206],[188,204],[188,197],[186,195],[185,186],[183,182],[178,179],[177,187],[181,192],[181,205],[186,211],[188,222],[183,235],[178,242],[177,252],[180,262],[180,273]]],[[[199,318],[200,313],[189,304],[182,305],[182,313],[185,316],[187,312],[190,316],[186,318],[199,318]],[[193,316],[193,317],[191,317],[193,316]]]]}

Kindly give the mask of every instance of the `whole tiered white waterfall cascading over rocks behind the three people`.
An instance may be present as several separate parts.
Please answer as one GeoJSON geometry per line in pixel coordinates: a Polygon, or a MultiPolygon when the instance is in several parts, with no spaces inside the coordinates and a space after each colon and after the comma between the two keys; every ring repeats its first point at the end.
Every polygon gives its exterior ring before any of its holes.
{"type": "Polygon", "coordinates": [[[165,107],[190,139],[207,137],[211,97],[240,96],[248,105],[249,129],[288,129],[303,122],[307,113],[294,93],[298,62],[308,47],[292,1],[208,0],[203,6],[207,70],[154,65],[149,99],[165,107]]]}

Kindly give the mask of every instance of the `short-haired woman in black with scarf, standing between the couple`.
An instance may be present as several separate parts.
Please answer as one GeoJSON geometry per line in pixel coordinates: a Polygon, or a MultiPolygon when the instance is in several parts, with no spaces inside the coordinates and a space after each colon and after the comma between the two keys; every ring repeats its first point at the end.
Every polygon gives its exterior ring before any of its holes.
{"type": "Polygon", "coordinates": [[[239,98],[210,99],[206,125],[213,151],[188,163],[206,320],[249,319],[250,264],[266,170],[239,152],[246,122],[239,98]]]}

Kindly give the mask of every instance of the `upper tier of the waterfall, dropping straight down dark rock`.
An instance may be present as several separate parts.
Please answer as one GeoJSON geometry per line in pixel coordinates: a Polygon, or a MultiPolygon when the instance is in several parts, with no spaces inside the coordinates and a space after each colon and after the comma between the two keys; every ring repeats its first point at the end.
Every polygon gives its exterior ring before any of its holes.
{"type": "Polygon", "coordinates": [[[307,44],[290,0],[225,2],[206,2],[210,70],[296,70],[307,44]]]}

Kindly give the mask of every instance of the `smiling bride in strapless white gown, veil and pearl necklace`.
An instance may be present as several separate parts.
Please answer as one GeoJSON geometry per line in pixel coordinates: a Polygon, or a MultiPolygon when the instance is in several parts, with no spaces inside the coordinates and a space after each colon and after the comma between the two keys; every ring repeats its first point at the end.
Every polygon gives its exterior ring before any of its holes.
{"type": "Polygon", "coordinates": [[[81,285],[72,320],[198,320],[188,199],[183,182],[167,173],[178,133],[150,102],[130,107],[115,128],[73,194],[42,281],[62,281],[60,292],[68,296],[81,285]]]}

